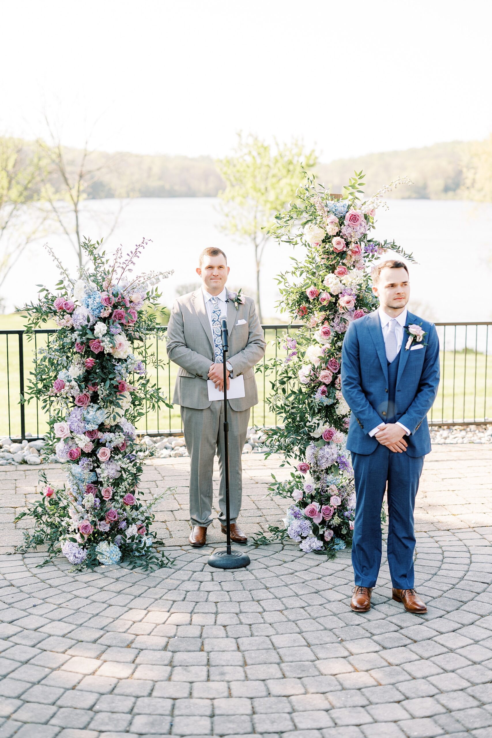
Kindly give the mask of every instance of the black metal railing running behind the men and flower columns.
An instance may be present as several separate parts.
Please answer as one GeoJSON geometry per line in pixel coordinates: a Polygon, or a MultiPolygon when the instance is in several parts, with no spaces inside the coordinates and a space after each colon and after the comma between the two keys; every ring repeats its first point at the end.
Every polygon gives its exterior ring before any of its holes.
{"type": "MultiPolygon", "coordinates": [[[[434,406],[429,413],[432,425],[477,424],[492,422],[492,373],[488,359],[492,350],[492,323],[436,323],[440,340],[441,381],[434,406]]],[[[277,416],[270,413],[266,401],[271,393],[271,380],[266,362],[278,357],[279,348],[274,341],[283,334],[295,334],[300,325],[263,325],[268,342],[266,355],[257,373],[259,404],[252,408],[250,423],[257,426],[277,424],[277,416]]],[[[30,373],[40,348],[49,348],[53,329],[34,332],[27,341],[24,331],[0,331],[0,373],[3,390],[0,393],[0,437],[24,439],[26,433],[38,438],[46,431],[46,414],[40,405],[32,401],[21,404],[20,397],[30,381],[30,373]],[[5,391],[6,390],[6,391],[5,391]]],[[[173,396],[177,366],[167,359],[165,350],[166,328],[148,340],[142,351],[148,365],[150,378],[170,399],[173,396]],[[150,362],[150,354],[157,359],[150,362]]],[[[283,351],[280,348],[280,351],[283,351]]],[[[285,351],[287,354],[287,351],[285,351]]],[[[171,435],[182,432],[179,407],[151,412],[145,407],[145,415],[139,423],[139,431],[148,435],[171,435]]]]}

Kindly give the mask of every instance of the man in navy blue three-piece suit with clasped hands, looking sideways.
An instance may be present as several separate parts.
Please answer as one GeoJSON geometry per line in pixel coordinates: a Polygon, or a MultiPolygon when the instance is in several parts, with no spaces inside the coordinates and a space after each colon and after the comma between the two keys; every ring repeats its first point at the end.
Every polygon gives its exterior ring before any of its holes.
{"type": "Polygon", "coordinates": [[[409,313],[402,261],[373,270],[378,310],[350,323],[342,347],[342,393],[352,410],[347,449],[356,483],[350,607],[370,610],[381,565],[381,505],[387,489],[387,554],[392,598],[409,613],[427,608],[414,587],[414,507],[423,458],[431,450],[427,413],[439,385],[433,323],[409,313]]]}

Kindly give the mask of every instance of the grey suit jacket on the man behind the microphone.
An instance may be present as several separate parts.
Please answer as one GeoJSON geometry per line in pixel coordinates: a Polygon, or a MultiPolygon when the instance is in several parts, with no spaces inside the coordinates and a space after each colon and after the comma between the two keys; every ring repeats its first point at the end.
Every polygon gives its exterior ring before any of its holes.
{"type": "MultiPolygon", "coordinates": [[[[254,300],[245,297],[236,308],[227,301],[227,332],[232,376],[244,376],[245,396],[229,400],[232,410],[247,410],[257,404],[258,390],[253,367],[263,358],[266,341],[254,309],[254,300]],[[238,320],[246,323],[237,325],[238,320]]],[[[173,402],[183,407],[204,410],[210,407],[207,374],[215,361],[212,328],[201,289],[179,297],[173,305],[167,325],[167,356],[179,365],[173,402]]]]}

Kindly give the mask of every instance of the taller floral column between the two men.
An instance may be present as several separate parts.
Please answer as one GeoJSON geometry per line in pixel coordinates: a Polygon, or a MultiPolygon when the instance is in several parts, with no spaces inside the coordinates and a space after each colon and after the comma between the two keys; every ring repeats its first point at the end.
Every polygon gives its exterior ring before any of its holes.
{"type": "Polygon", "coordinates": [[[285,529],[268,530],[298,542],[302,551],[333,556],[352,539],[356,495],[345,446],[350,410],[340,387],[342,341],[349,323],[378,305],[370,264],[388,249],[413,261],[394,241],[370,235],[376,209],[387,207],[384,193],[408,182],[395,180],[361,201],[361,172],[350,179],[343,199],[306,176],[271,230],[281,243],[305,246],[305,258],[294,258],[291,271],[278,277],[279,307],[302,328],[279,339],[286,358],[269,362],[275,373],[269,404],[282,425],[268,430],[267,442],[295,466],[288,481],[274,478],[271,485],[292,500],[285,529]]]}

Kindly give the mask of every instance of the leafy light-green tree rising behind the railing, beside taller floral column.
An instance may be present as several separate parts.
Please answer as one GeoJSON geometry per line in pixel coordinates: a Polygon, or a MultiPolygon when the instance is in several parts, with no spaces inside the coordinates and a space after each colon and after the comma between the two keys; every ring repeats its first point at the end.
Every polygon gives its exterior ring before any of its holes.
{"type": "Polygon", "coordinates": [[[262,322],[260,266],[268,229],[273,227],[275,215],[295,198],[303,172],[311,170],[316,162],[315,152],[305,151],[297,139],[285,144],[275,142],[272,147],[252,134],[246,138],[238,134],[234,154],[217,162],[226,183],[219,193],[224,230],[254,249],[256,302],[262,322]]]}

